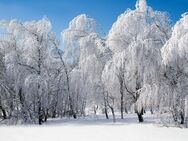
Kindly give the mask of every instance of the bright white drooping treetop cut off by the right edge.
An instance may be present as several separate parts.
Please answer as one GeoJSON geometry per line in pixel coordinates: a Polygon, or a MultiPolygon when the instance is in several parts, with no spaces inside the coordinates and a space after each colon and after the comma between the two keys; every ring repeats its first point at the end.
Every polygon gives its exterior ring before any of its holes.
{"type": "Polygon", "coordinates": [[[173,27],[171,38],[162,48],[163,63],[175,65],[176,63],[186,68],[188,72],[188,15],[183,17],[173,27]]]}

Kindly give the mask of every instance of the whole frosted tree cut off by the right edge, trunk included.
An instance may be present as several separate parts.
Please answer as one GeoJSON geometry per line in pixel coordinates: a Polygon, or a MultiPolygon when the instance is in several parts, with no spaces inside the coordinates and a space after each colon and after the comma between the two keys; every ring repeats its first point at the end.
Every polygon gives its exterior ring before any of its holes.
{"type": "Polygon", "coordinates": [[[185,14],[176,23],[171,38],[162,48],[164,78],[169,90],[166,92],[167,95],[164,95],[164,99],[168,101],[164,106],[170,108],[174,121],[181,124],[184,123],[185,97],[187,96],[188,85],[187,22],[188,16],[185,14]]]}

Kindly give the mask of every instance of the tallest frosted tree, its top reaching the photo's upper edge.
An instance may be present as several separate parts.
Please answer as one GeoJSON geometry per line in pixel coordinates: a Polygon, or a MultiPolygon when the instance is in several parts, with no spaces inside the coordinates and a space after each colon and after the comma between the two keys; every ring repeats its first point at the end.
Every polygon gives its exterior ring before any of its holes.
{"type": "Polygon", "coordinates": [[[119,65],[113,61],[116,65],[114,73],[119,73],[120,99],[122,101],[125,94],[131,96],[140,121],[143,121],[141,111],[144,106],[143,101],[139,102],[140,97],[146,98],[141,93],[156,83],[161,61],[160,48],[169,36],[167,14],[154,11],[145,0],[138,0],[135,10],[128,9],[119,16],[109,32],[107,44],[114,56],[119,57],[114,59],[121,60],[119,65]]]}

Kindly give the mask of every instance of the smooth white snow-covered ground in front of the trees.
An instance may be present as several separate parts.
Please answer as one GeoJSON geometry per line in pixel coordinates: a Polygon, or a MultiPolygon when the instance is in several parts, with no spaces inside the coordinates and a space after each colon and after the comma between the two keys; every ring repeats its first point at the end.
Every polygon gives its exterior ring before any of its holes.
{"type": "Polygon", "coordinates": [[[127,116],[116,123],[104,118],[56,119],[43,126],[1,126],[0,141],[188,141],[188,129],[161,127],[156,118],[127,116]]]}

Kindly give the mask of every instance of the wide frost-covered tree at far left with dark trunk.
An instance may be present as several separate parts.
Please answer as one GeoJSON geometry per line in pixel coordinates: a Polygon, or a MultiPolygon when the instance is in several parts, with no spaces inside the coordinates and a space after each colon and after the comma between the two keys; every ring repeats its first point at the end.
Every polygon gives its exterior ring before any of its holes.
{"type": "MultiPolygon", "coordinates": [[[[24,121],[38,119],[42,124],[48,102],[48,84],[53,71],[50,50],[54,34],[47,18],[39,21],[2,21],[8,35],[2,40],[9,79],[13,80],[15,96],[24,121]],[[31,113],[32,112],[32,113],[31,113]]],[[[16,113],[19,114],[19,110],[16,113]]]]}

